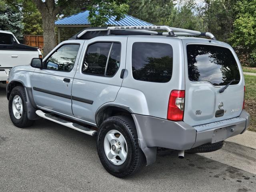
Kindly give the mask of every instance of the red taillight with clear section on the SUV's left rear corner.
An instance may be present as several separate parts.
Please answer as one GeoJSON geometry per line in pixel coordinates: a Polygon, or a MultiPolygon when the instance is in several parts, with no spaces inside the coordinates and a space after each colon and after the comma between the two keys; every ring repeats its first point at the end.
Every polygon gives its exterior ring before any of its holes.
{"type": "Polygon", "coordinates": [[[167,119],[182,121],[184,116],[185,91],[172,90],[169,97],[167,119]]]}

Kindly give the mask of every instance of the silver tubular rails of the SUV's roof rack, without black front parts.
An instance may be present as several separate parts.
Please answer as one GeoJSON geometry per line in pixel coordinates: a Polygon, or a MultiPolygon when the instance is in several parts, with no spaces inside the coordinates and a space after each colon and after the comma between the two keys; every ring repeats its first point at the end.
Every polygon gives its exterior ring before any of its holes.
{"type": "Polygon", "coordinates": [[[98,29],[85,29],[80,34],[77,35],[80,38],[86,32],[89,31],[108,31],[107,35],[110,34],[112,30],[131,30],[134,32],[142,32],[152,35],[164,35],[164,36],[206,36],[212,40],[217,40],[215,36],[210,32],[199,32],[194,30],[174,28],[169,26],[111,26],[107,28],[98,28],[98,29]],[[167,32],[156,32],[154,30],[166,30],[167,32]]]}

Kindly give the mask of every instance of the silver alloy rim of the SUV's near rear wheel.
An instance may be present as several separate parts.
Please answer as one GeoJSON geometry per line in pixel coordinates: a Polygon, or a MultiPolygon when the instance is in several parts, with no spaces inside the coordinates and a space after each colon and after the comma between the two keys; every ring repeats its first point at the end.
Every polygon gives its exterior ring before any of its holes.
{"type": "Polygon", "coordinates": [[[128,151],[124,136],[117,130],[110,130],[104,138],[104,150],[112,164],[123,164],[128,151]]]}

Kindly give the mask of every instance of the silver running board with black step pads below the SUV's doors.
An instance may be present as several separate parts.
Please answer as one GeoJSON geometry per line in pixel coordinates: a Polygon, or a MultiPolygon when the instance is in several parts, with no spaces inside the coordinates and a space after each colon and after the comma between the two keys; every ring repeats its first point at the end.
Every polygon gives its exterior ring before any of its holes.
{"type": "Polygon", "coordinates": [[[72,128],[74,130],[80,131],[80,132],[88,134],[90,136],[96,136],[97,135],[97,131],[95,131],[95,130],[92,130],[88,127],[85,127],[85,126],[82,126],[82,125],[79,125],[79,124],[76,124],[76,123],[72,123],[72,122],[64,120],[62,118],[58,118],[58,117],[53,116],[51,114],[44,113],[41,110],[37,110],[36,114],[38,116],[42,117],[42,118],[45,118],[45,119],[50,120],[52,122],[61,124],[63,126],[69,127],[69,128],[72,128]]]}

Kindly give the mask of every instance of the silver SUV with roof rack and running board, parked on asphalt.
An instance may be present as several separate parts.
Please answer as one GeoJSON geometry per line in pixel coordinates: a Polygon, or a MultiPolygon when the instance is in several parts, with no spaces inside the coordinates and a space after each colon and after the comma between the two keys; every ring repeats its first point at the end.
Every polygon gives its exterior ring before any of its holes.
{"type": "Polygon", "coordinates": [[[44,118],[97,136],[100,161],[117,177],[154,163],[157,148],[180,158],[218,150],[250,124],[239,60],[209,32],[87,28],[14,67],[8,81],[15,126],[44,118]]]}

